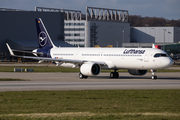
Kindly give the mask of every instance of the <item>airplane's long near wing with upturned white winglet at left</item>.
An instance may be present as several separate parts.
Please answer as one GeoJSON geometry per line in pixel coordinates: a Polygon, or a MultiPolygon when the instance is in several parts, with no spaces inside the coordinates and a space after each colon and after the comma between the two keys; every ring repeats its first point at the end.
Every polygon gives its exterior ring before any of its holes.
{"type": "Polygon", "coordinates": [[[39,60],[39,63],[41,63],[42,61],[53,61],[53,62],[74,63],[74,64],[83,64],[86,62],[92,62],[92,63],[97,63],[97,64],[102,65],[102,66],[106,65],[106,63],[103,61],[88,61],[88,60],[62,59],[62,58],[55,59],[55,58],[46,58],[46,57],[17,56],[13,53],[13,51],[18,51],[18,50],[12,50],[7,43],[6,43],[6,45],[8,47],[8,50],[9,50],[11,56],[28,58],[28,59],[35,59],[35,60],[39,60]]]}

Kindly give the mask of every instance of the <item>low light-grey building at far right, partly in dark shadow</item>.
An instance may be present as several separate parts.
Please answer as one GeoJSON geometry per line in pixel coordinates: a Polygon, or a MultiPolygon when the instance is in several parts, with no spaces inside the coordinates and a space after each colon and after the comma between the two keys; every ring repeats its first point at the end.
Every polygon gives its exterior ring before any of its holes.
{"type": "Polygon", "coordinates": [[[180,43],[180,27],[132,27],[131,43],[123,47],[152,47],[152,43],[180,43]]]}

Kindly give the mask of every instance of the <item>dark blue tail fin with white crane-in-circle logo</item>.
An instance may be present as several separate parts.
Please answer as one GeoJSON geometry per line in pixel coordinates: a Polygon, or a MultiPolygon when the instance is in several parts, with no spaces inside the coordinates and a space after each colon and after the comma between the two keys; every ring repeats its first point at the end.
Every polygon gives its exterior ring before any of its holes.
{"type": "Polygon", "coordinates": [[[38,44],[39,48],[52,48],[55,47],[53,44],[41,18],[37,18],[36,20],[37,27],[37,35],[38,35],[38,44]]]}

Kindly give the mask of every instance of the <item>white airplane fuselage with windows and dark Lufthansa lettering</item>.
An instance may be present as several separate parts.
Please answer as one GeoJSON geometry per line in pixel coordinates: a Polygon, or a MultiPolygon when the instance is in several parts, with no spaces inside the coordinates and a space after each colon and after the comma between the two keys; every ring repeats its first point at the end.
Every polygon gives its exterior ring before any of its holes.
{"type": "MultiPolygon", "coordinates": [[[[173,64],[170,57],[154,57],[166,52],[155,48],[52,48],[51,57],[105,62],[102,69],[165,69],[173,64]]],[[[166,54],[167,55],[167,54],[166,54]]],[[[62,64],[62,66],[74,64],[62,64]]]]}

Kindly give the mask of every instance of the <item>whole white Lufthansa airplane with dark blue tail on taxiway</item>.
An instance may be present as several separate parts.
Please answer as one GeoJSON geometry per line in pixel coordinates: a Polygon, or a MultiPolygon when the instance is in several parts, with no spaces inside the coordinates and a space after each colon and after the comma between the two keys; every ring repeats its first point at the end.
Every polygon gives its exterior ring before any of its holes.
{"type": "MultiPolygon", "coordinates": [[[[35,56],[18,56],[6,43],[11,56],[51,61],[56,66],[80,68],[79,78],[99,75],[102,69],[114,70],[110,78],[119,78],[118,69],[128,69],[131,75],[145,75],[151,70],[152,79],[157,79],[156,70],[172,66],[167,53],[156,48],[81,48],[56,47],[41,18],[35,19],[39,48],[32,51],[35,56]]],[[[22,51],[25,52],[25,51],[22,51]]],[[[28,52],[29,53],[29,52],[28,52]]]]}

